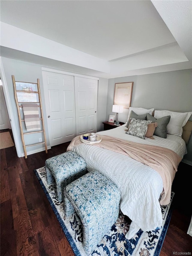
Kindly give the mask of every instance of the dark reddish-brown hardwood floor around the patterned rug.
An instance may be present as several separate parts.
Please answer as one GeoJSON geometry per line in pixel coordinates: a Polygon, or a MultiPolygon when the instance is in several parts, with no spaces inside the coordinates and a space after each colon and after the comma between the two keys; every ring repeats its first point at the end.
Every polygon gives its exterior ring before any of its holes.
{"type": "MultiPolygon", "coordinates": [[[[74,255],[33,171],[43,167],[47,158],[65,152],[68,145],[54,146],[48,154],[39,152],[27,159],[18,158],[14,146],[0,150],[1,256],[74,255]]],[[[160,256],[174,255],[174,251],[192,253],[192,237],[187,235],[192,214],[191,176],[191,166],[180,163],[172,187],[176,193],[173,214],[160,256]]]]}

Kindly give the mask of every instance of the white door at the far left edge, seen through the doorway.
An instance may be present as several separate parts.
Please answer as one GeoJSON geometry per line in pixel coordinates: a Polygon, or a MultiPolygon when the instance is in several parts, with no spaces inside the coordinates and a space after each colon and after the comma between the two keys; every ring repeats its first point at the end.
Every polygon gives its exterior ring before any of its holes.
{"type": "Polygon", "coordinates": [[[0,129],[10,129],[10,121],[5,103],[2,85],[0,85],[0,129]]]}

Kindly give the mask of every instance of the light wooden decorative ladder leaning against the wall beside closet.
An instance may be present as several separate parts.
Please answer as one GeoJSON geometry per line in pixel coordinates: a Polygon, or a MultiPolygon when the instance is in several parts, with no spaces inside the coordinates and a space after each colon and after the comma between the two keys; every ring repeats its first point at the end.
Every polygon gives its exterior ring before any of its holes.
{"type": "Polygon", "coordinates": [[[21,81],[15,81],[15,77],[12,75],[12,80],[13,80],[13,88],[14,88],[14,96],[15,96],[15,102],[16,102],[16,106],[17,106],[17,113],[18,113],[18,117],[19,117],[19,126],[20,126],[20,131],[21,131],[21,139],[22,139],[22,144],[23,144],[23,149],[25,152],[25,158],[27,158],[27,151],[26,151],[26,147],[30,147],[30,146],[36,146],[36,145],[40,145],[40,144],[45,144],[45,152],[47,153],[47,141],[46,141],[46,134],[45,134],[45,126],[44,126],[44,118],[43,118],[43,110],[42,110],[42,101],[41,101],[41,92],[40,92],[40,86],[39,86],[39,79],[37,79],[37,83],[29,83],[29,82],[21,82],[21,81]],[[37,86],[37,91],[30,91],[30,90],[16,90],[16,83],[22,84],[23,85],[36,85],[37,86]],[[17,92],[19,93],[35,93],[38,95],[38,101],[36,102],[31,102],[31,101],[22,101],[22,102],[18,102],[18,97],[17,97],[17,92]],[[41,109],[41,118],[40,120],[42,121],[42,131],[32,131],[32,132],[25,132],[23,133],[23,127],[22,127],[22,122],[24,122],[24,120],[21,119],[21,112],[20,112],[20,108],[22,108],[22,105],[19,105],[21,103],[39,103],[40,105],[38,105],[38,107],[40,107],[41,109]],[[31,145],[26,145],[25,144],[25,140],[24,140],[24,135],[27,134],[33,134],[33,133],[41,133],[43,132],[44,134],[44,142],[39,142],[39,143],[35,143],[35,144],[31,144],[31,145]]]}

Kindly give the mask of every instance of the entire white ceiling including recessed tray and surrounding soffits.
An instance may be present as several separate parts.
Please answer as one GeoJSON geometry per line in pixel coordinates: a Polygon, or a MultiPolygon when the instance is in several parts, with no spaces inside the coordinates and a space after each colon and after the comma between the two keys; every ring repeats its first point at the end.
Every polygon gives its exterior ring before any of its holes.
{"type": "MultiPolygon", "coordinates": [[[[48,58],[58,61],[56,66],[59,68],[65,68],[67,64],[75,65],[77,71],[78,67],[82,67],[85,70],[81,68],[81,72],[87,73],[89,68],[92,74],[108,78],[132,73],[154,73],[154,70],[162,72],[166,71],[166,65],[167,71],[192,68],[189,47],[191,3],[192,1],[1,0],[1,23],[11,25],[6,26],[6,29],[1,26],[4,28],[1,31],[1,56],[10,58],[14,50],[13,58],[27,61],[29,54],[38,55],[41,56],[38,63],[42,65],[43,58],[48,58]],[[177,11],[174,13],[175,9],[177,11]],[[179,33],[177,26],[181,26],[181,23],[183,27],[179,29],[182,30],[179,33]],[[9,29],[13,33],[15,31],[18,44],[17,35],[21,33],[24,36],[25,32],[26,37],[38,39],[36,42],[39,42],[39,46],[36,44],[36,49],[34,47],[32,50],[32,47],[21,48],[21,43],[20,47],[14,41],[11,44],[10,35],[7,35],[9,29]],[[49,39],[46,46],[52,45],[50,56],[48,51],[43,53],[43,38],[49,39]],[[61,45],[63,50],[58,58],[56,51],[61,45]],[[9,53],[7,48],[12,51],[9,53]],[[78,52],[74,52],[74,49],[78,52]],[[21,54],[22,51],[28,55],[21,54]],[[86,53],[84,56],[89,61],[81,63],[79,60],[77,63],[72,60],[72,56],[71,59],[70,56],[66,59],[65,51],[67,55],[72,54],[81,60],[84,58],[83,53],[86,53]],[[92,62],[95,63],[94,66],[92,62]],[[97,62],[100,66],[98,68],[97,62]],[[101,62],[105,68],[101,68],[101,62]]],[[[29,46],[30,44],[31,41],[29,46]]],[[[35,57],[34,62],[37,62],[35,57]]]]}

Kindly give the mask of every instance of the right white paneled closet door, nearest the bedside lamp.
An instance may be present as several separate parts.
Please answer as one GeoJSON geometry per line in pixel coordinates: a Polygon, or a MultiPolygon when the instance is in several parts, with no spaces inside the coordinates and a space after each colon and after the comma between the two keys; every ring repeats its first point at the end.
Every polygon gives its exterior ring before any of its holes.
{"type": "Polygon", "coordinates": [[[76,136],[96,132],[98,80],[75,77],[76,136]]]}

